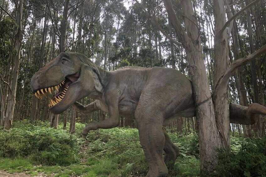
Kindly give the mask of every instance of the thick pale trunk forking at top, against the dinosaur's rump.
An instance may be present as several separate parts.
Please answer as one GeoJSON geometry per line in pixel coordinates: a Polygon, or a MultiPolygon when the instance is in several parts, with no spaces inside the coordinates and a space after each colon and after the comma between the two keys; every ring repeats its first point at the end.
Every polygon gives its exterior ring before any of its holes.
{"type": "Polygon", "coordinates": [[[184,18],[186,32],[177,19],[172,4],[164,0],[168,17],[171,20],[179,39],[186,50],[189,61],[189,73],[193,83],[193,92],[198,118],[200,139],[200,167],[202,170],[212,171],[217,164],[215,149],[221,147],[221,140],[216,128],[214,106],[210,94],[210,86],[205,72],[205,64],[201,53],[201,42],[192,3],[182,0],[181,7],[187,18],[184,18]],[[206,128],[208,127],[208,128],[206,128]],[[208,165],[209,164],[209,165],[208,165]]]}

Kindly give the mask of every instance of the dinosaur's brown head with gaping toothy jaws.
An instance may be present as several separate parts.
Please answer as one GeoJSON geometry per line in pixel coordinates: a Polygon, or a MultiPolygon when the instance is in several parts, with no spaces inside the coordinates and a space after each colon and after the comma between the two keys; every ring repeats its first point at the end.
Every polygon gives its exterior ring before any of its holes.
{"type": "Polygon", "coordinates": [[[93,69],[87,60],[82,54],[60,53],[33,75],[32,92],[39,99],[50,93],[49,110],[54,114],[64,112],[93,91],[93,69]]]}

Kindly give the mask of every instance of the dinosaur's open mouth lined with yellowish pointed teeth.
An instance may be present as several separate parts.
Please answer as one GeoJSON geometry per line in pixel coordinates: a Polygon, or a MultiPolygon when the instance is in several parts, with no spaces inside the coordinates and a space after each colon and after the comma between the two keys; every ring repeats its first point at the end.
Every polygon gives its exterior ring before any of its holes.
{"type": "Polygon", "coordinates": [[[40,90],[35,91],[34,94],[38,99],[42,99],[42,96],[47,97],[48,95],[47,93],[54,95],[53,93],[57,91],[57,93],[54,96],[52,96],[48,104],[49,108],[53,107],[64,99],[69,86],[71,86],[72,83],[76,82],[78,78],[79,78],[79,72],[73,75],[68,75],[58,85],[41,88],[40,90]]]}

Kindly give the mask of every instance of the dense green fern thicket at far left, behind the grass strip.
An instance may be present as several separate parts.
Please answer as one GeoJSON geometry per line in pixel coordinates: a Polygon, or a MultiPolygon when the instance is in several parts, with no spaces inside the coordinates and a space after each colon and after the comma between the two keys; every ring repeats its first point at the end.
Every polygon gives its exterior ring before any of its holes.
{"type": "Polygon", "coordinates": [[[68,165],[78,161],[78,140],[64,130],[17,122],[10,132],[0,130],[0,157],[26,157],[35,164],[68,165]]]}

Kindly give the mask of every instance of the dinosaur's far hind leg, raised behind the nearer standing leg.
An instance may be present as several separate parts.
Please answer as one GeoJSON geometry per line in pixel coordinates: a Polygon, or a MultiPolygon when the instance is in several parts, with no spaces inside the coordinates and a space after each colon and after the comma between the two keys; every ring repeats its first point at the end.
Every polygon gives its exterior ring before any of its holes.
{"type": "Polygon", "coordinates": [[[168,169],[172,169],[175,163],[175,160],[179,154],[179,148],[171,141],[170,137],[163,128],[163,133],[165,137],[165,143],[163,150],[165,152],[164,162],[167,165],[168,169]]]}

